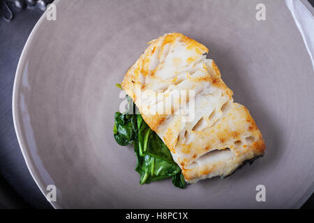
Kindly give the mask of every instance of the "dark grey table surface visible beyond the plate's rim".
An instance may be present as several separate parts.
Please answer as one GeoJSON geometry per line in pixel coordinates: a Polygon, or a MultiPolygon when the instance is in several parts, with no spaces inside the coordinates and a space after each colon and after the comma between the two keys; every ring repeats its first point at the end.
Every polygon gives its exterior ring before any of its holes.
{"type": "MultiPolygon", "coordinates": [[[[2,1],[2,0],[0,0],[2,1]]],[[[309,0],[314,6],[314,0],[309,0]]],[[[52,208],[24,162],[12,117],[15,70],[29,33],[43,11],[14,11],[12,22],[0,18],[0,208],[52,208]]],[[[302,206],[314,208],[314,194],[302,206]]]]}

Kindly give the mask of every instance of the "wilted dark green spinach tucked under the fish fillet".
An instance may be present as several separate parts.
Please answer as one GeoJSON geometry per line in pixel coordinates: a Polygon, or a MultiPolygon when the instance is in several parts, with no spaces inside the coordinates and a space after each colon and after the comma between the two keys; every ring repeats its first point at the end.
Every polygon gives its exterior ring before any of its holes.
{"type": "Polygon", "coordinates": [[[151,183],[172,177],[172,184],[184,188],[186,182],[180,167],[172,159],[172,155],[158,137],[151,130],[140,114],[135,114],[135,104],[126,95],[129,102],[133,104],[133,114],[127,112],[114,114],[114,139],[121,146],[134,145],[137,156],[135,171],[140,174],[140,184],[151,183]]]}

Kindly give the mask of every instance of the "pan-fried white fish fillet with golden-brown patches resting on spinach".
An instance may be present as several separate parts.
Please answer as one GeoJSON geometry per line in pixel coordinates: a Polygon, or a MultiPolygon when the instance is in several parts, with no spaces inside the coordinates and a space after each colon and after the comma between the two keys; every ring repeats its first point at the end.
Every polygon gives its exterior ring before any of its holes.
{"type": "Polygon", "coordinates": [[[248,109],[233,102],[216,64],[204,56],[207,47],[181,33],[149,44],[121,86],[170,149],[187,183],[228,176],[264,153],[260,130],[248,109]],[[193,90],[193,98],[181,98],[179,90],[193,90]],[[185,100],[186,109],[167,104],[171,97],[185,100]]]}

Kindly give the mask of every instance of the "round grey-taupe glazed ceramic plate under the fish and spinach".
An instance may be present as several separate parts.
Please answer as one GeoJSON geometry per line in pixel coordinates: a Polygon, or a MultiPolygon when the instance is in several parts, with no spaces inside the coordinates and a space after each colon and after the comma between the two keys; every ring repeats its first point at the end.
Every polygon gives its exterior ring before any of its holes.
{"type": "Polygon", "coordinates": [[[314,72],[285,1],[58,1],[41,17],[15,79],[17,137],[40,190],[55,208],[298,208],[314,188],[314,72]],[[184,33],[246,105],[267,152],[230,178],[185,190],[170,180],[139,185],[131,146],[112,135],[119,89],[149,40],[184,33]],[[266,202],[255,187],[266,187],[266,202]]]}

